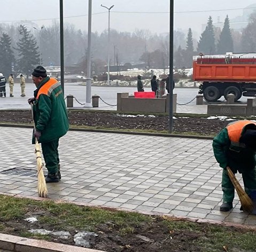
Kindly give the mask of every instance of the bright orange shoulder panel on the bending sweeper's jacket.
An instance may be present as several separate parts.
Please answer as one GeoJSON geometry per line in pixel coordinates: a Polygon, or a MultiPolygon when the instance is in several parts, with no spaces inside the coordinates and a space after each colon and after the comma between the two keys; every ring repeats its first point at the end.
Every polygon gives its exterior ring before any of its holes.
{"type": "Polygon", "coordinates": [[[244,127],[248,124],[254,124],[256,126],[256,123],[249,120],[231,122],[230,124],[228,124],[226,128],[228,130],[228,136],[231,141],[231,145],[244,147],[244,144],[239,143],[239,139],[244,130],[244,127]]]}

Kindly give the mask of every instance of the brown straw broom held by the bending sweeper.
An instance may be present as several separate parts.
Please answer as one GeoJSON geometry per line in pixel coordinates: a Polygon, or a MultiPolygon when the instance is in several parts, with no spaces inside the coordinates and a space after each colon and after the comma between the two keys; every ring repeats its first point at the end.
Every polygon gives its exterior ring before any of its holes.
{"type": "Polygon", "coordinates": [[[229,167],[227,167],[227,172],[232,184],[236,188],[236,192],[243,207],[243,210],[249,213],[252,212],[254,207],[251,198],[247,195],[247,193],[245,193],[243,187],[239,184],[237,178],[229,167]]]}

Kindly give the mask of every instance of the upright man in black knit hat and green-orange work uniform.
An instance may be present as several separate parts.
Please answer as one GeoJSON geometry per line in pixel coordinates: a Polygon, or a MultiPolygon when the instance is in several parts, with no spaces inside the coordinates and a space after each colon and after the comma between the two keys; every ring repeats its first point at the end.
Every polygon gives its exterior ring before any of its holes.
{"type": "Polygon", "coordinates": [[[59,182],[59,138],[68,131],[68,116],[64,100],[63,90],[55,78],[50,78],[42,66],[37,66],[32,73],[32,80],[36,85],[34,97],[28,99],[28,103],[34,103],[33,115],[36,130],[33,132],[41,143],[45,167],[48,175],[46,183],[59,182]]]}

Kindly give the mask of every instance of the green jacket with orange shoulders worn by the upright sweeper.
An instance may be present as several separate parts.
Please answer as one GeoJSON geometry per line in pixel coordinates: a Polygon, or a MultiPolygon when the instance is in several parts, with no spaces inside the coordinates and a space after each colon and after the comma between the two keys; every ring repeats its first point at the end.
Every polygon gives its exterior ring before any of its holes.
{"type": "MultiPolygon", "coordinates": [[[[46,77],[34,91],[35,127],[42,133],[39,141],[46,143],[64,136],[69,127],[63,90],[55,78],[46,77]]],[[[34,139],[33,139],[34,143],[34,139]]]]}

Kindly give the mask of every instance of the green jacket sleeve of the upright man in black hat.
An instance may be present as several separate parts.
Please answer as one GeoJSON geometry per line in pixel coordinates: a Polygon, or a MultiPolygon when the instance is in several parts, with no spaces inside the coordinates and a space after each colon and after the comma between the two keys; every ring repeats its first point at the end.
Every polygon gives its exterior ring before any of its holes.
{"type": "Polygon", "coordinates": [[[51,117],[52,105],[49,96],[46,96],[46,94],[40,94],[38,99],[38,109],[40,111],[40,116],[36,123],[36,130],[42,132],[51,117]]]}

